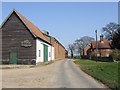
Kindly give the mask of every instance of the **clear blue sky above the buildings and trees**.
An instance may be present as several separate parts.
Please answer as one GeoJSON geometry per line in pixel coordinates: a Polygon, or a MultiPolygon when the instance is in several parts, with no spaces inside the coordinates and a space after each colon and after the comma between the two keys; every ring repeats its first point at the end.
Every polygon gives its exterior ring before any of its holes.
{"type": "Polygon", "coordinates": [[[98,38],[102,27],[118,23],[117,2],[2,2],[2,22],[14,9],[40,30],[46,30],[67,49],[83,36],[98,38]]]}

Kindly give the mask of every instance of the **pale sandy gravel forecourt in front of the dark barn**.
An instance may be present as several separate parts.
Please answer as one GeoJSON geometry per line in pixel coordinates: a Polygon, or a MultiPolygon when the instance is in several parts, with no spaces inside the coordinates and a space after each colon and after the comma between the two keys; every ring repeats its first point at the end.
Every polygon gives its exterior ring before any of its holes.
{"type": "MultiPolygon", "coordinates": [[[[52,83],[54,64],[36,66],[33,68],[13,68],[2,70],[3,88],[47,88],[52,83]]],[[[11,66],[12,67],[12,66],[11,66]]]]}

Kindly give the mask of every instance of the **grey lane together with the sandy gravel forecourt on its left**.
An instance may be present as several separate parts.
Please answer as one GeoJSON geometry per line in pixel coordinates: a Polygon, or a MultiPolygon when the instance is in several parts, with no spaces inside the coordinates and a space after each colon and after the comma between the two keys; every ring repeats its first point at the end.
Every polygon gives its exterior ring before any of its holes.
{"type": "Polygon", "coordinates": [[[79,69],[72,60],[45,66],[3,69],[3,88],[106,88],[79,69]]]}

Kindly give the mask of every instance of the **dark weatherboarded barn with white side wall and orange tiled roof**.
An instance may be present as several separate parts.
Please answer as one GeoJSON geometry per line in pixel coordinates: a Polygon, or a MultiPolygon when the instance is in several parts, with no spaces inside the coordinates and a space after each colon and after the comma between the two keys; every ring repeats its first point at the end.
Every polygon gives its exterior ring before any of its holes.
{"type": "Polygon", "coordinates": [[[56,47],[38,27],[16,10],[5,19],[1,31],[3,64],[36,64],[55,59],[56,47]]]}

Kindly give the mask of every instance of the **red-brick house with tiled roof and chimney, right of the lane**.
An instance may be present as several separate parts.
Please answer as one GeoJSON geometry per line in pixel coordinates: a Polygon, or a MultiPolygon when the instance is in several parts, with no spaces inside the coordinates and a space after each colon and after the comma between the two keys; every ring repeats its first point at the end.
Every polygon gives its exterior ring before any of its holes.
{"type": "Polygon", "coordinates": [[[112,52],[111,50],[111,41],[104,40],[103,35],[100,36],[100,40],[97,41],[96,46],[96,41],[92,41],[89,45],[83,48],[83,57],[87,57],[90,59],[91,57],[101,57],[101,58],[106,58],[110,57],[110,54],[112,52]],[[97,52],[96,52],[97,48],[97,52]]]}

